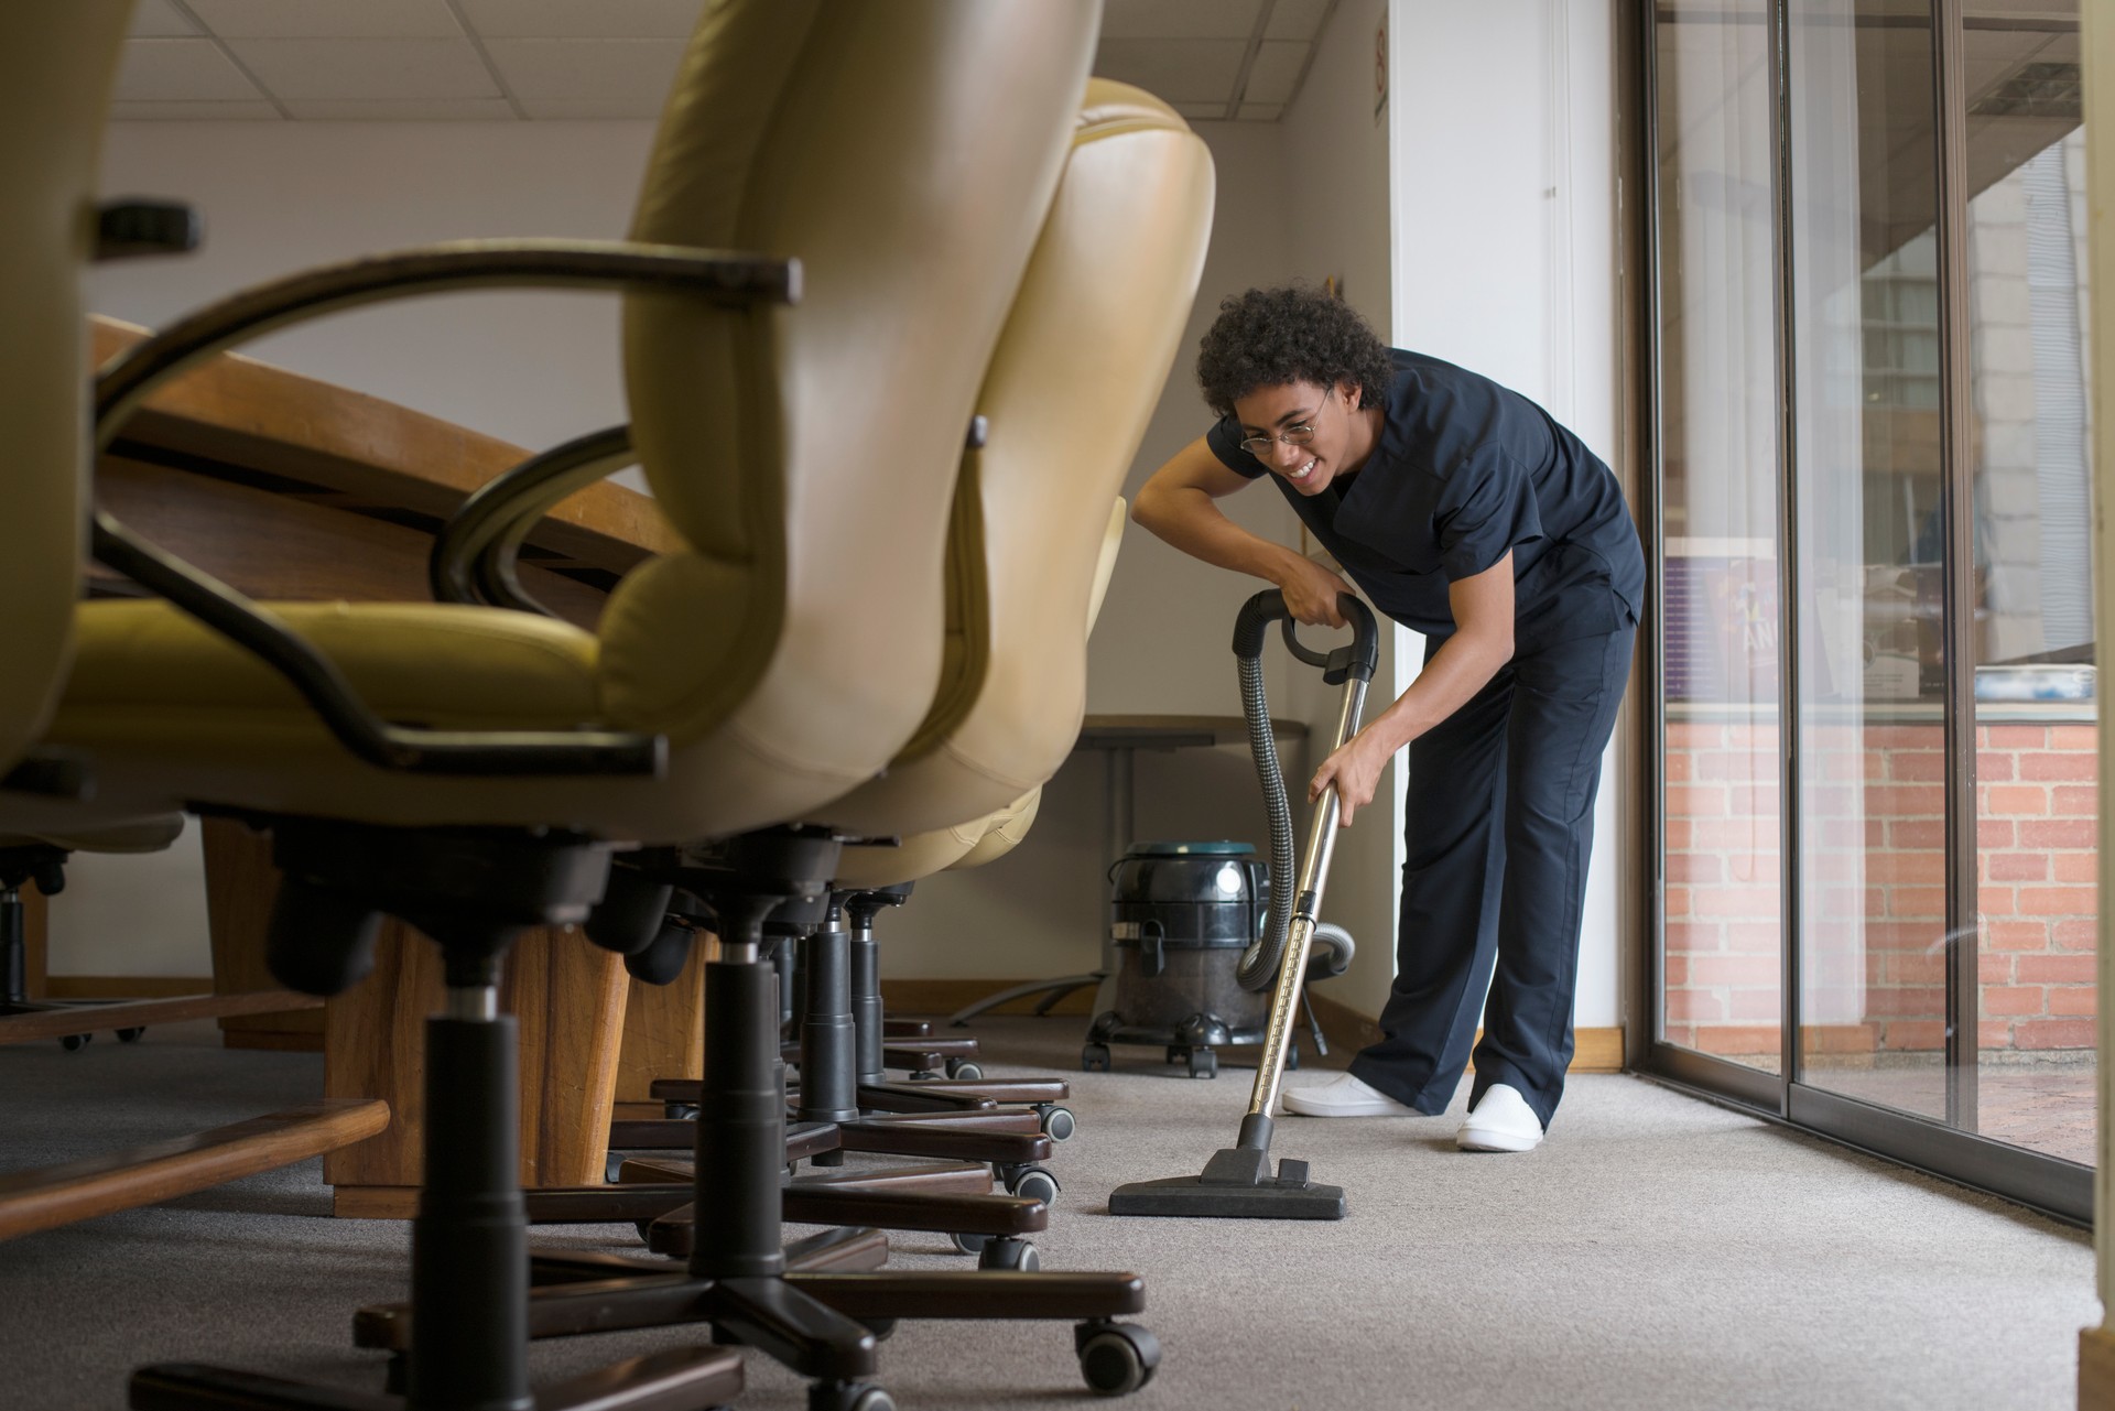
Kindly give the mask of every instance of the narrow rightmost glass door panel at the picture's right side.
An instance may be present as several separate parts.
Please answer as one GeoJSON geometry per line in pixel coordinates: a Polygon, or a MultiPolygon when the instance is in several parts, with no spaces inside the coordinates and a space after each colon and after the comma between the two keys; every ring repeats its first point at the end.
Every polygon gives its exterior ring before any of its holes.
{"type": "Polygon", "coordinates": [[[1969,4],[1978,1104],[2094,1159],[2092,465],[2077,6],[1969,4]],[[2058,21],[2058,23],[2052,23],[2058,21]]]}

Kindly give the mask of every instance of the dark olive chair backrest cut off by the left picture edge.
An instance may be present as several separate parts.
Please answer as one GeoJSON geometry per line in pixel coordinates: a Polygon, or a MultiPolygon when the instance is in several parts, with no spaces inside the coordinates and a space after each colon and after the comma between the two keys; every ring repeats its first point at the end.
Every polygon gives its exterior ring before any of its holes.
{"type": "Polygon", "coordinates": [[[72,649],[87,493],[80,269],[131,0],[0,4],[0,774],[72,649]]]}

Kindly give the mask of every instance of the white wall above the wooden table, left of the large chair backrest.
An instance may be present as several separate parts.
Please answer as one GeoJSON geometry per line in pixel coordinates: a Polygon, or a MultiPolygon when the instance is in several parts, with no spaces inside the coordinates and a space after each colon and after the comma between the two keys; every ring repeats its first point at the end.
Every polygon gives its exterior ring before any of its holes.
{"type": "MultiPolygon", "coordinates": [[[[157,324],[400,245],[620,239],[651,140],[651,123],[116,123],[104,188],[195,203],[205,248],[95,269],[91,307],[157,324]]],[[[613,294],[391,300],[243,351],[525,446],[624,419],[613,294]]]]}

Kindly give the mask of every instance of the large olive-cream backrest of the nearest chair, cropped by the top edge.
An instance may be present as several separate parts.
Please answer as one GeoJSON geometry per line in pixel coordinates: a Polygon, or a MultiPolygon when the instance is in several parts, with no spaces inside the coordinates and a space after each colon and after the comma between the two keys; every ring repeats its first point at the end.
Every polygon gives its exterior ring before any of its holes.
{"type": "Polygon", "coordinates": [[[632,235],[795,256],[802,294],[626,300],[641,463],[689,552],[620,584],[605,704],[668,734],[679,772],[702,740],[732,787],[791,764],[833,798],[924,717],[956,468],[1098,21],[1096,0],[700,19],[632,235]]]}

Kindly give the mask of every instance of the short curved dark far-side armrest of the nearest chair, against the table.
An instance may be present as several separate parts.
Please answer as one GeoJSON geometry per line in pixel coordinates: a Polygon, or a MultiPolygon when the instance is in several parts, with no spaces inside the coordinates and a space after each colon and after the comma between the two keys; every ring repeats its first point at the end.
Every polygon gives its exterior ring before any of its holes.
{"type": "Polygon", "coordinates": [[[628,425],[575,436],[480,484],[442,525],[427,556],[440,603],[478,603],[556,613],[520,584],[516,556],[529,531],[567,495],[637,461],[628,425]]]}

